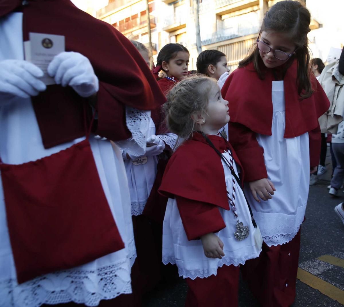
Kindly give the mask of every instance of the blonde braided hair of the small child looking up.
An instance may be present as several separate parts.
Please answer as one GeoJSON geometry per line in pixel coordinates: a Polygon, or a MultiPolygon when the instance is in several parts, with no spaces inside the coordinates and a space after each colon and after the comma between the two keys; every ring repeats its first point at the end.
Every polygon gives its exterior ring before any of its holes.
{"type": "Polygon", "coordinates": [[[163,106],[166,124],[171,132],[179,138],[190,138],[196,125],[193,115],[206,114],[208,93],[214,84],[217,84],[214,78],[192,74],[173,86],[163,106]]]}

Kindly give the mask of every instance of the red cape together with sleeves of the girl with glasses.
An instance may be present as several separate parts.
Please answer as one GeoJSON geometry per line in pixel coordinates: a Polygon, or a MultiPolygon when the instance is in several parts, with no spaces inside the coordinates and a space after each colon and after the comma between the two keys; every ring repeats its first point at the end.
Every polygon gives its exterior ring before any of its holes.
{"type": "MultiPolygon", "coordinates": [[[[284,76],[286,102],[285,138],[309,134],[310,166],[317,166],[320,157],[321,135],[318,118],[330,106],[321,85],[312,75],[314,92],[300,100],[296,84],[297,62],[294,61],[284,76]]],[[[228,137],[245,170],[245,181],[267,178],[264,150],[259,146],[256,134],[271,135],[272,125],[272,70],[265,70],[260,80],[252,63],[236,69],[227,78],[222,96],[228,100],[230,122],[228,137]]]]}

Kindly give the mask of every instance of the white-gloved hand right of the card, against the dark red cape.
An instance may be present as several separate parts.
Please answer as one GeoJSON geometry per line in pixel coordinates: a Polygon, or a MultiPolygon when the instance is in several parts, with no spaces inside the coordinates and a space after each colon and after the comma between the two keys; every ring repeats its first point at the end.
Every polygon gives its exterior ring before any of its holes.
{"type": "Polygon", "coordinates": [[[78,52],[61,52],[48,66],[48,74],[54,77],[56,84],[72,86],[82,97],[89,97],[98,92],[99,81],[86,56],[78,52]]]}

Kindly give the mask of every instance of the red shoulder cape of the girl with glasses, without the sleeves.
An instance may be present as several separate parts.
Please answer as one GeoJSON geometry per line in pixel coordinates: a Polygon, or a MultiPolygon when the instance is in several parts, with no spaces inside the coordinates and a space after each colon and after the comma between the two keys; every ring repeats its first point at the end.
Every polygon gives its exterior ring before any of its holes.
{"type": "MultiPolygon", "coordinates": [[[[318,118],[324,114],[330,102],[320,83],[312,75],[314,90],[311,97],[300,101],[296,84],[297,62],[288,68],[284,76],[286,101],[285,138],[300,136],[318,126],[318,118]]],[[[252,131],[271,135],[272,125],[272,70],[266,69],[265,79],[260,80],[253,63],[237,68],[227,78],[222,96],[229,102],[230,121],[243,124],[252,131]]]]}

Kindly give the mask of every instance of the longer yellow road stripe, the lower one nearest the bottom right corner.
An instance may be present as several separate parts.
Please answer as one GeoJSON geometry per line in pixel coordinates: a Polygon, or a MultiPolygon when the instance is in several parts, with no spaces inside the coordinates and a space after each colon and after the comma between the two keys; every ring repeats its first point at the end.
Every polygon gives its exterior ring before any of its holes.
{"type": "Polygon", "coordinates": [[[319,277],[312,275],[311,273],[298,268],[298,279],[306,285],[319,290],[322,294],[338,301],[344,305],[344,291],[325,282],[319,277]]]}

